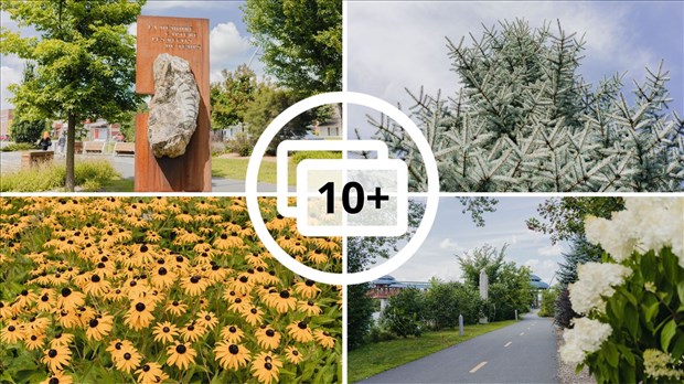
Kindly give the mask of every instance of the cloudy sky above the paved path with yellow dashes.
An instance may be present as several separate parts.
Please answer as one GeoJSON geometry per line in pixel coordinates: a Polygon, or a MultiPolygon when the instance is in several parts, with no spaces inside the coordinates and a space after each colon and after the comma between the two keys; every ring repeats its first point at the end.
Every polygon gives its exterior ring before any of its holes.
{"type": "MultiPolygon", "coordinates": [[[[544,198],[499,198],[496,212],[484,215],[484,227],[475,226],[456,198],[441,198],[435,224],[420,249],[392,276],[402,281],[461,279],[456,255],[484,244],[501,248],[509,244],[505,260],[525,265],[548,282],[563,260],[568,244],[552,245],[547,235],[527,230],[525,220],[536,217],[544,198]]],[[[555,281],[555,279],[554,279],[555,281]]]]}

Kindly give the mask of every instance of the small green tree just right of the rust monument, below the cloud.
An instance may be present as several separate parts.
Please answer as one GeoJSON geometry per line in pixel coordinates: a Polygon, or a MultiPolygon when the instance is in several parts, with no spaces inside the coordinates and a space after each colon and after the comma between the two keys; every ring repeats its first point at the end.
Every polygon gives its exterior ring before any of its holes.
{"type": "Polygon", "coordinates": [[[223,129],[243,122],[245,111],[259,90],[256,74],[246,64],[235,72],[223,70],[223,79],[212,84],[212,128],[223,129]]]}

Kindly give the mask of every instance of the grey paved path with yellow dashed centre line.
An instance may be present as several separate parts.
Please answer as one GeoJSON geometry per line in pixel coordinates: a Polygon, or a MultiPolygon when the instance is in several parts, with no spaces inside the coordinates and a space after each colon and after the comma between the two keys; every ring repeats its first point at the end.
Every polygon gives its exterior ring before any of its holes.
{"type": "Polygon", "coordinates": [[[552,320],[527,313],[513,326],[361,383],[555,383],[556,372],[556,339],[552,320]]]}

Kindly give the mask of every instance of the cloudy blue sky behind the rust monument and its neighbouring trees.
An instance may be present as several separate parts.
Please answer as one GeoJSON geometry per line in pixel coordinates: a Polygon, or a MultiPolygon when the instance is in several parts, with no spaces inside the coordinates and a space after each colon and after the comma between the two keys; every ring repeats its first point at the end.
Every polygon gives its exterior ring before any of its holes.
{"type": "MultiPolygon", "coordinates": [[[[247,63],[255,53],[247,28],[243,22],[241,1],[148,1],[142,14],[168,15],[182,18],[204,18],[210,20],[210,70],[212,82],[221,79],[221,71],[234,71],[239,64],[247,63]]],[[[1,12],[2,26],[17,30],[17,24],[6,12],[1,12]]],[[[35,34],[32,29],[22,29],[23,35],[35,34]]],[[[136,25],[129,28],[136,32],[136,25]]],[[[264,75],[264,65],[258,54],[252,63],[252,68],[264,75]]],[[[1,56],[2,76],[2,109],[10,106],[7,86],[21,79],[23,61],[17,56],[1,56]]]]}

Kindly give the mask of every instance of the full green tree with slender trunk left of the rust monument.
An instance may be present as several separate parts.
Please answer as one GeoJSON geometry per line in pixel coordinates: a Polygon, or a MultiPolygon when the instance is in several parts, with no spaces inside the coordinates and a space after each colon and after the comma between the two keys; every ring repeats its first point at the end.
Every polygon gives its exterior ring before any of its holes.
{"type": "Polygon", "coordinates": [[[115,120],[135,109],[136,21],[145,0],[3,1],[1,9],[40,36],[1,29],[2,54],[38,64],[33,81],[10,89],[12,103],[34,119],[66,118],[66,182],[74,190],[74,129],[85,118],[115,120]]]}

